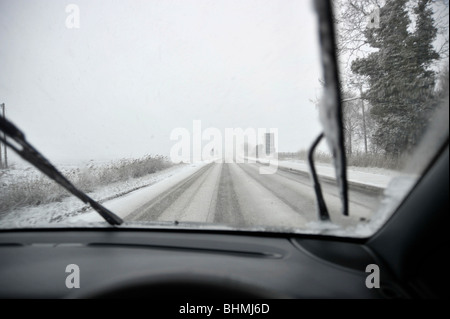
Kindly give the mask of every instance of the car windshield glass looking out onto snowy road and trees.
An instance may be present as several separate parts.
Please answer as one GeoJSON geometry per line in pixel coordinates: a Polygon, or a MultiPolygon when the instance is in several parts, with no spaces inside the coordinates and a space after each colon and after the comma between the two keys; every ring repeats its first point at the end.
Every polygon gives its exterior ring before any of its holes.
{"type": "MultiPolygon", "coordinates": [[[[327,143],[329,220],[308,165],[330,99],[312,2],[0,0],[1,116],[120,227],[370,236],[448,139],[448,1],[332,4],[348,216],[327,143]]],[[[0,228],[109,227],[0,158],[0,228]]]]}

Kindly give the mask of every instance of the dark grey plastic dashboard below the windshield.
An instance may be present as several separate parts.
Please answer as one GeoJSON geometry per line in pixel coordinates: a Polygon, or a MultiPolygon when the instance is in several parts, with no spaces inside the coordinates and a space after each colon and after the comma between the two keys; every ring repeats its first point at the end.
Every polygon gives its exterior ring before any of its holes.
{"type": "Polygon", "coordinates": [[[7,231],[0,260],[0,298],[405,297],[385,275],[383,289],[366,287],[366,266],[382,263],[363,243],[326,238],[7,231]],[[79,267],[78,289],[65,285],[69,264],[79,267]]]}

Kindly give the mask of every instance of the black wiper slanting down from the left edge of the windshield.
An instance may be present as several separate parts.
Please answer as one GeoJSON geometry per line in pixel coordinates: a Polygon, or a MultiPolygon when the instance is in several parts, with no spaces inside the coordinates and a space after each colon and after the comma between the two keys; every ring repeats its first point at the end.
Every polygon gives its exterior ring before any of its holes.
{"type": "Polygon", "coordinates": [[[37,151],[30,143],[27,142],[25,134],[19,130],[13,123],[6,118],[0,117],[0,131],[6,134],[17,144],[13,144],[7,140],[6,136],[0,135],[0,140],[8,147],[13,149],[24,160],[33,164],[42,173],[64,187],[67,191],[81,199],[84,203],[89,204],[96,210],[109,224],[120,225],[123,220],[111,212],[109,209],[99,204],[84,192],[77,189],[63,174],[61,174],[55,166],[53,166],[39,151],[37,151]]]}

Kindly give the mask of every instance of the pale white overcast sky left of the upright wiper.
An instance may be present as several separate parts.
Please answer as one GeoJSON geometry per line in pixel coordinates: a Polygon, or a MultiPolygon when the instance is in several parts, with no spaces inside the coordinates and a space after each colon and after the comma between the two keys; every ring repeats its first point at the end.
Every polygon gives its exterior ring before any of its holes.
{"type": "Polygon", "coordinates": [[[55,161],[169,155],[193,120],[278,128],[280,151],[320,132],[310,1],[0,0],[0,41],[0,103],[55,161]]]}

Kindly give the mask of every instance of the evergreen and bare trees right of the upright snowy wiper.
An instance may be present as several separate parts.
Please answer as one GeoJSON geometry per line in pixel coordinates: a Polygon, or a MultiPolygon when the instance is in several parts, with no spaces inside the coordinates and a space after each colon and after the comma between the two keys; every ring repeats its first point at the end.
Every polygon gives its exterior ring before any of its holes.
{"type": "Polygon", "coordinates": [[[400,157],[448,94],[448,2],[334,4],[347,152],[400,157]]]}

